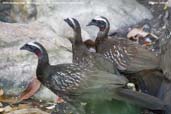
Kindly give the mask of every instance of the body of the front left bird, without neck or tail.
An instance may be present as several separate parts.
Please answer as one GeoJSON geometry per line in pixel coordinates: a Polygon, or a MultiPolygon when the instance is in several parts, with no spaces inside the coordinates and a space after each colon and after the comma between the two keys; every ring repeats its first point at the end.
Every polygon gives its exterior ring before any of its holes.
{"type": "MultiPolygon", "coordinates": [[[[111,94],[109,90],[123,87],[127,83],[127,79],[123,76],[77,64],[59,64],[51,66],[50,69],[51,73],[43,84],[61,97],[94,99],[99,95],[100,98],[105,99],[104,94],[111,94]]],[[[110,98],[109,95],[106,96],[110,98]]]]}

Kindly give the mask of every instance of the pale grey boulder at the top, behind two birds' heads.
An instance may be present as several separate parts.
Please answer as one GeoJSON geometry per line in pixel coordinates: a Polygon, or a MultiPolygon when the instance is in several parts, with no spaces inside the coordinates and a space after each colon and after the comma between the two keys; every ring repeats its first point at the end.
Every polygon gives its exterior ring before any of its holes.
{"type": "MultiPolygon", "coordinates": [[[[36,0],[42,3],[41,0],[36,0]]],[[[136,24],[143,19],[152,18],[151,13],[136,0],[75,0],[65,1],[60,4],[60,0],[45,0],[49,5],[39,5],[38,21],[48,23],[55,31],[63,33],[60,18],[75,17],[80,21],[82,28],[87,31],[91,37],[95,37],[97,29],[86,27],[86,24],[95,16],[102,15],[109,19],[111,23],[110,32],[119,27],[136,24]],[[112,5],[111,5],[112,4],[112,5]],[[79,7],[79,10],[78,10],[79,7]],[[139,16],[141,15],[141,16],[139,16]],[[44,18],[46,17],[46,18],[44,18]],[[50,20],[49,20],[49,17],[50,20]],[[56,21],[54,23],[53,21],[56,21]],[[61,31],[58,31],[60,28],[61,31]]]]}

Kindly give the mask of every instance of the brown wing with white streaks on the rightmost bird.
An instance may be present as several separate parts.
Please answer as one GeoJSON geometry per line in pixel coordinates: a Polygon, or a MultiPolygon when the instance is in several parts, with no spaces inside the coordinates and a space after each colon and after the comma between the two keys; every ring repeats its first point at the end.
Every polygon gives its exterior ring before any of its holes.
{"type": "Polygon", "coordinates": [[[159,57],[126,39],[109,39],[99,46],[99,53],[114,61],[119,70],[141,71],[159,68],[159,57]]]}

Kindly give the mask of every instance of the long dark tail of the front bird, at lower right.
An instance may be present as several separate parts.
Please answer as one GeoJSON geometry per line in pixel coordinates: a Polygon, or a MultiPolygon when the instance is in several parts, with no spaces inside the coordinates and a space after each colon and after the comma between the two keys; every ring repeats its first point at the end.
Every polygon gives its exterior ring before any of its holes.
{"type": "Polygon", "coordinates": [[[130,89],[120,88],[114,94],[114,97],[117,97],[116,99],[151,110],[164,110],[166,106],[165,103],[157,97],[130,89]]]}

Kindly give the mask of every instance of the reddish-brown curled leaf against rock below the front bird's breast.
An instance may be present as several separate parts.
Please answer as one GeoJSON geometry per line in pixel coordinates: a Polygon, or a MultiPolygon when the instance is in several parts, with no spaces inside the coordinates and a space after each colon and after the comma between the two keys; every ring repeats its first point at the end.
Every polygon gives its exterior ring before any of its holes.
{"type": "Polygon", "coordinates": [[[40,85],[40,81],[36,77],[33,77],[27,88],[19,95],[18,101],[32,97],[39,90],[40,85]]]}

